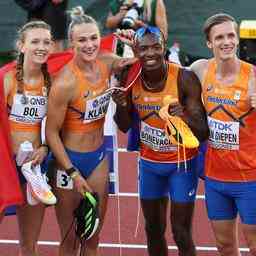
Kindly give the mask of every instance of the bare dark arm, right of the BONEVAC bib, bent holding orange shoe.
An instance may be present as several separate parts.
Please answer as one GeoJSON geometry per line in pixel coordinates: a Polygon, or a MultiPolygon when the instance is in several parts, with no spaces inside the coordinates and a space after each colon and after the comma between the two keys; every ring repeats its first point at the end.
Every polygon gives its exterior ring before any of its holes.
{"type": "Polygon", "coordinates": [[[209,136],[206,112],[202,103],[201,84],[188,69],[180,69],[178,75],[179,102],[184,107],[184,120],[200,142],[209,136]]]}

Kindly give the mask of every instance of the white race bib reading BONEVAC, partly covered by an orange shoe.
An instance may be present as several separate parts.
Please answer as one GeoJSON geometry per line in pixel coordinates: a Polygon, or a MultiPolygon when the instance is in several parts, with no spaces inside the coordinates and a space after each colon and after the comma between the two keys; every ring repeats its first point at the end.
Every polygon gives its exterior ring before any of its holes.
{"type": "Polygon", "coordinates": [[[145,122],[141,122],[140,140],[154,151],[169,152],[177,150],[177,147],[170,143],[163,129],[152,127],[145,122]]]}

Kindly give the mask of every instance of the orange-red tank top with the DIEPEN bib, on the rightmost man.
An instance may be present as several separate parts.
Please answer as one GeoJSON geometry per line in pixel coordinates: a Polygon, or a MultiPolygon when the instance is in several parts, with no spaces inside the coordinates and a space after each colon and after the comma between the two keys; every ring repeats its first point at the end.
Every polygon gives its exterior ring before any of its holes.
{"type": "Polygon", "coordinates": [[[216,62],[209,61],[203,82],[210,137],[206,176],[227,182],[256,181],[256,111],[249,102],[252,65],[241,61],[230,85],[216,80],[216,62]]]}

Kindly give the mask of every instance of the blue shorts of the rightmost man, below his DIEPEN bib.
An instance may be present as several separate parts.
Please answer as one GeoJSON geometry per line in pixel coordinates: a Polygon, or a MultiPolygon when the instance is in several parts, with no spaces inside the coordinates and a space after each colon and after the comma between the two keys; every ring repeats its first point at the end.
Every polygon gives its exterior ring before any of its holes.
{"type": "Polygon", "coordinates": [[[256,181],[222,182],[205,179],[205,198],[210,220],[232,220],[256,224],[256,181]]]}

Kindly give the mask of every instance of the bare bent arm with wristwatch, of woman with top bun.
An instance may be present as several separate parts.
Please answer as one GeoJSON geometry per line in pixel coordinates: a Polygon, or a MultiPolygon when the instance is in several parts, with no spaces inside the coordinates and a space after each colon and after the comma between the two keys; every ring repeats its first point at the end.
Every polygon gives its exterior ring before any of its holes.
{"type": "Polygon", "coordinates": [[[71,101],[75,86],[72,74],[67,71],[53,80],[48,99],[48,112],[46,120],[46,140],[54,156],[62,168],[68,169],[72,164],[66,154],[60,138],[60,131],[65,118],[68,103],[71,101]]]}

